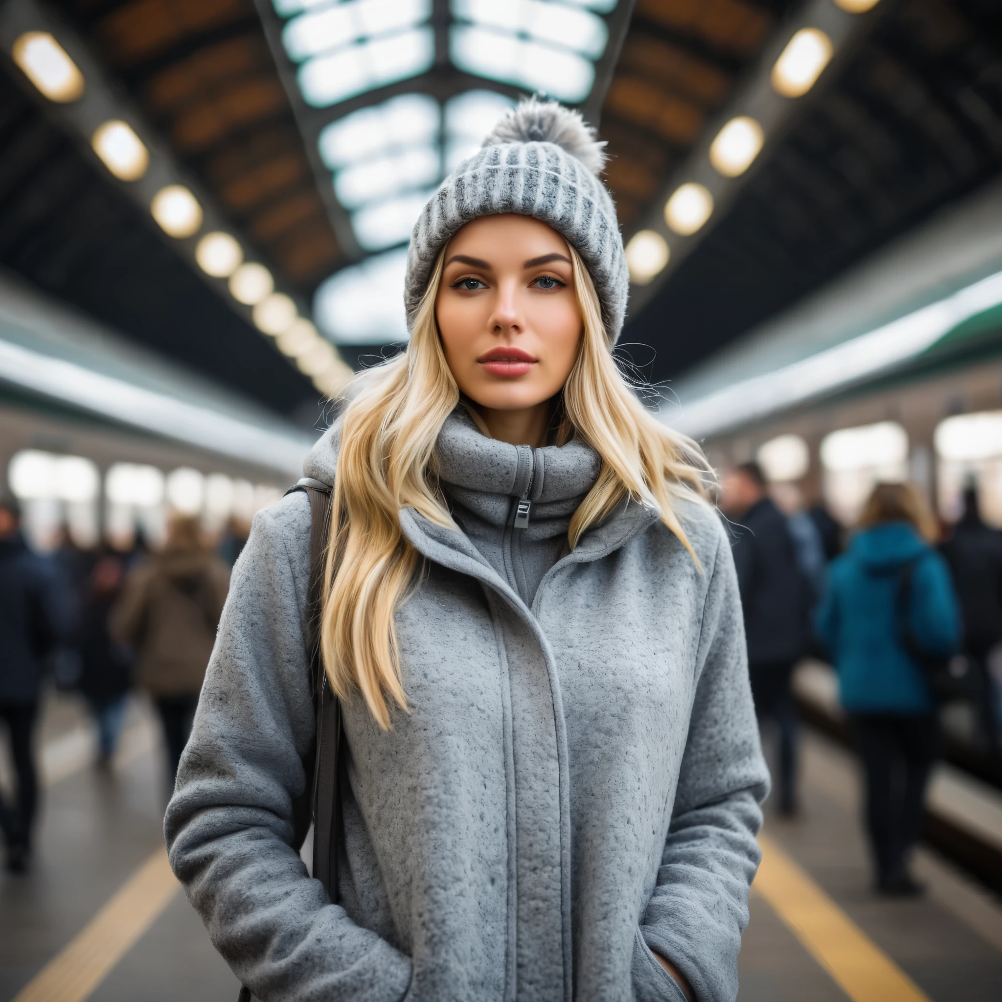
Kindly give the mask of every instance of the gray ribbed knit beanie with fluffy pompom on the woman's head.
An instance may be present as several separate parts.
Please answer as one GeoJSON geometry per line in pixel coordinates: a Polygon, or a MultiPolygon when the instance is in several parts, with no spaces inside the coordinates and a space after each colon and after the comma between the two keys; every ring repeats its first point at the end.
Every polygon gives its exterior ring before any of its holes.
{"type": "Polygon", "coordinates": [[[517,212],[551,225],[588,268],[609,344],[622,330],[629,273],[616,209],[598,173],[604,142],[577,111],[530,97],[509,111],[442,182],[415,223],[404,305],[412,328],[439,252],[481,215],[517,212]]]}

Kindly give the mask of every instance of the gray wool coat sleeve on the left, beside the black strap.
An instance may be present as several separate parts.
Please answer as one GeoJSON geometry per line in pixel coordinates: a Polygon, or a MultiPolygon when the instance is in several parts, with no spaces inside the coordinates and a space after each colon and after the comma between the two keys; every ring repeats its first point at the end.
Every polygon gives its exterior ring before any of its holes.
{"type": "Polygon", "coordinates": [[[213,945],[258,998],[397,1002],[410,959],[332,905],[292,846],[316,727],[309,532],[302,495],[255,518],[167,808],[167,849],[213,945]]]}

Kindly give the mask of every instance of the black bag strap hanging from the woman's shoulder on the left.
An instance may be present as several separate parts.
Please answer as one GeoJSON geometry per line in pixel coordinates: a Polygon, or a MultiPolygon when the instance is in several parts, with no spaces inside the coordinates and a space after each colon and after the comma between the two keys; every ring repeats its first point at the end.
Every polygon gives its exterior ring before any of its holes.
{"type": "MultiPolygon", "coordinates": [[[[310,586],[307,590],[307,655],[310,687],[317,712],[317,738],[313,775],[307,778],[314,822],[313,875],[337,903],[338,839],[341,828],[338,781],[340,776],[341,704],[331,690],[320,653],[320,615],[324,599],[324,566],[331,526],[331,486],[304,477],[287,494],[303,491],[310,498],[310,586]]],[[[305,833],[304,833],[305,834],[305,833]]],[[[252,1002],[244,985],[237,1002],[252,1002]]]]}

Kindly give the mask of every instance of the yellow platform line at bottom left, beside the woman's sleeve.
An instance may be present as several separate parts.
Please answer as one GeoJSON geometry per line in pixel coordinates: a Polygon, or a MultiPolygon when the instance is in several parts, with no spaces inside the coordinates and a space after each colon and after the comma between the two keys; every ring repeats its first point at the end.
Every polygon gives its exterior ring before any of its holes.
{"type": "Polygon", "coordinates": [[[158,849],[15,996],[14,1002],[83,1002],[170,904],[180,885],[158,849]]]}

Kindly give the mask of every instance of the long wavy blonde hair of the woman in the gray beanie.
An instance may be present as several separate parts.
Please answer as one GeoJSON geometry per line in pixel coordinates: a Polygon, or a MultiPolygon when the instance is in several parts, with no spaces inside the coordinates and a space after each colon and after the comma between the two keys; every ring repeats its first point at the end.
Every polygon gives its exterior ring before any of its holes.
{"type": "MultiPolygon", "coordinates": [[[[581,347],[564,386],[556,430],[601,458],[595,485],[570,520],[573,549],[588,528],[626,498],[659,513],[695,555],[675,511],[681,498],[704,494],[709,476],[689,439],[650,414],[617,368],[591,276],[568,246],[582,319],[581,347]]],[[[389,729],[388,698],[407,709],[394,614],[416,587],[421,558],[404,536],[403,508],[455,528],[437,479],[435,446],[459,403],[435,320],[445,248],[421,300],[407,351],[370,370],[345,410],[332,502],[321,611],[321,654],[331,686],[347,698],[361,691],[381,727],[389,729]]]]}

